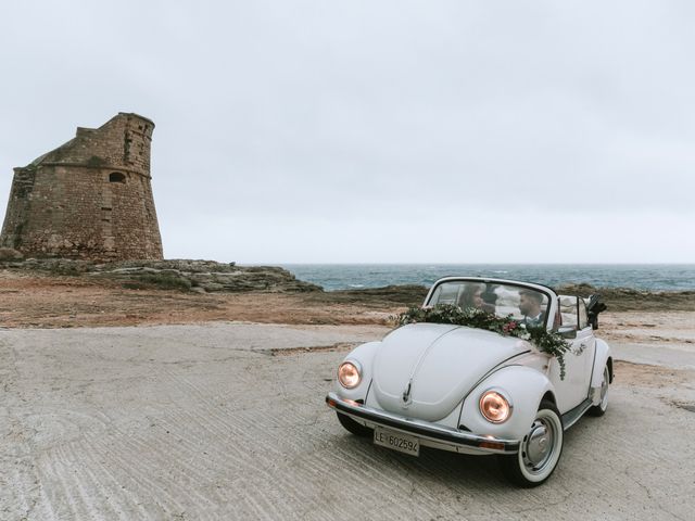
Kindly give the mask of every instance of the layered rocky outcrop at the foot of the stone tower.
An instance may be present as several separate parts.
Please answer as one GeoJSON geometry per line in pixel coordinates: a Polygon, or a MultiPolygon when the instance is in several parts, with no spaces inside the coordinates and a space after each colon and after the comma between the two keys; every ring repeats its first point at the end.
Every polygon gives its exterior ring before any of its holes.
{"type": "Polygon", "coordinates": [[[298,280],[276,266],[237,266],[214,260],[124,260],[94,264],[66,258],[28,258],[0,260],[0,268],[26,269],[54,275],[99,277],[122,281],[126,288],[207,292],[307,292],[321,291],[318,285],[298,280]]]}

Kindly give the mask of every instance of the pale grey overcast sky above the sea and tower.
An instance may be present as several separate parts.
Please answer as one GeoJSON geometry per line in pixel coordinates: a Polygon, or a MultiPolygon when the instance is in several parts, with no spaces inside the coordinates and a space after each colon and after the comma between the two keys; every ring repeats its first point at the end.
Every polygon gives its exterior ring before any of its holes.
{"type": "Polygon", "coordinates": [[[695,262],[695,2],[0,7],[12,168],[154,120],[167,258],[695,262]]]}

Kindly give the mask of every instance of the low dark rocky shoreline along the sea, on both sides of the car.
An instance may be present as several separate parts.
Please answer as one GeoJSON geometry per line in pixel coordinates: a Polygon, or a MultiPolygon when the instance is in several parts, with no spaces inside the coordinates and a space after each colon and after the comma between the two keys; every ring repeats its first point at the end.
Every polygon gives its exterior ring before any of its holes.
{"type": "MultiPolygon", "coordinates": [[[[0,252],[2,253],[2,252],[0,252]]],[[[16,258],[0,255],[0,270],[42,276],[78,277],[113,281],[126,290],[179,290],[194,293],[304,293],[314,303],[364,306],[418,305],[427,295],[421,285],[388,285],[325,291],[277,266],[239,266],[215,260],[124,260],[93,263],[66,258],[16,258]]],[[[595,288],[567,284],[558,293],[589,296],[598,293],[612,312],[695,310],[695,290],[647,291],[632,288],[595,288]]]]}

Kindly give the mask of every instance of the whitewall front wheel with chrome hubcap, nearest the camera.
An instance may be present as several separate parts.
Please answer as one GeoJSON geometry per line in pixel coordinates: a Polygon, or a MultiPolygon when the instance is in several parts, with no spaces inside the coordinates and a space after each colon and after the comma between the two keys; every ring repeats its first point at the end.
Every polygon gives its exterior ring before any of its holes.
{"type": "Polygon", "coordinates": [[[500,457],[505,476],[523,486],[538,486],[547,480],[563,454],[563,420],[552,402],[543,401],[531,429],[519,444],[519,453],[500,457]]]}

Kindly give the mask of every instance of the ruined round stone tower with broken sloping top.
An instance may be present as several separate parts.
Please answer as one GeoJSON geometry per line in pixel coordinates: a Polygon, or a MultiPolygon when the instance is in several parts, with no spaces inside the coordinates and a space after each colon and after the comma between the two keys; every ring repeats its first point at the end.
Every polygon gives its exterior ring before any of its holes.
{"type": "Polygon", "coordinates": [[[34,257],[161,259],[153,129],[146,117],[118,113],[14,168],[0,246],[34,257]]]}

